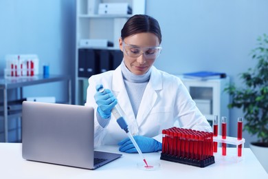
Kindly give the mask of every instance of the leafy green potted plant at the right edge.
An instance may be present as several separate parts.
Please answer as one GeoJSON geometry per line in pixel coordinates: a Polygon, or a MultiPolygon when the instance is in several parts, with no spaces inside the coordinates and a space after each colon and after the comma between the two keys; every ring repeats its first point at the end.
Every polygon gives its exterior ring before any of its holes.
{"type": "MultiPolygon", "coordinates": [[[[229,108],[241,108],[244,113],[244,127],[249,134],[256,135],[258,141],[251,143],[266,149],[268,155],[268,36],[258,37],[257,47],[252,50],[252,59],[258,61],[254,68],[240,75],[243,85],[237,87],[231,83],[225,88],[230,94],[231,103],[229,108]]],[[[251,147],[252,148],[252,147],[251,147]]],[[[253,150],[253,149],[252,149],[253,150]]],[[[258,158],[258,156],[257,156],[258,158]]],[[[268,159],[267,172],[268,172],[268,159]]]]}

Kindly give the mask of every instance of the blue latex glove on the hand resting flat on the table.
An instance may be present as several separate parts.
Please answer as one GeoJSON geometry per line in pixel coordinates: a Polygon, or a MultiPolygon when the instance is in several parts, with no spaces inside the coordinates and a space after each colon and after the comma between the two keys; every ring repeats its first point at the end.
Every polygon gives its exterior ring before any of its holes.
{"type": "MultiPolygon", "coordinates": [[[[133,136],[139,149],[142,153],[160,151],[162,149],[162,144],[153,138],[148,138],[144,136],[133,136]]],[[[119,150],[126,153],[137,153],[137,149],[131,142],[129,138],[121,140],[118,145],[121,145],[119,150]]]]}

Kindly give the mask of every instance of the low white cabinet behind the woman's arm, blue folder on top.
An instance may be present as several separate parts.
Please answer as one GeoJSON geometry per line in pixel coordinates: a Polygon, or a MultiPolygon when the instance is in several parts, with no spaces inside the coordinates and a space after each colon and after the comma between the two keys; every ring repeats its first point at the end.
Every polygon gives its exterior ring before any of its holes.
{"type": "MultiPolygon", "coordinates": [[[[202,114],[208,119],[210,125],[213,125],[214,115],[218,115],[219,135],[221,135],[221,117],[227,117],[227,125],[230,124],[229,104],[230,97],[223,92],[224,88],[230,83],[230,78],[213,79],[208,81],[199,81],[179,76],[181,81],[186,85],[192,99],[197,103],[197,107],[202,114]]],[[[227,135],[229,127],[227,126],[227,135]]]]}

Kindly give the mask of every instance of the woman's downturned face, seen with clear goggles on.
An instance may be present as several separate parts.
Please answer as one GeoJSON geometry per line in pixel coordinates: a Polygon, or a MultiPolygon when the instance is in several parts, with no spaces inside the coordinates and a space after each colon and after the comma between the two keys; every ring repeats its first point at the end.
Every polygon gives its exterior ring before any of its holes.
{"type": "Polygon", "coordinates": [[[150,32],[127,36],[124,41],[119,39],[120,50],[124,53],[124,63],[133,74],[142,75],[148,72],[155,62],[155,50],[159,46],[159,39],[150,32]]]}

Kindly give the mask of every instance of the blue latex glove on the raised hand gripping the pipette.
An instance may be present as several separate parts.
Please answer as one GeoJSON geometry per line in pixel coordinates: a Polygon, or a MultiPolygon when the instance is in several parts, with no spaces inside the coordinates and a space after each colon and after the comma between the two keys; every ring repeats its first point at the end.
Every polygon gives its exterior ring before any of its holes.
{"type": "Polygon", "coordinates": [[[104,89],[103,92],[98,92],[102,85],[96,85],[95,101],[98,104],[97,111],[102,118],[109,118],[111,116],[111,109],[118,103],[115,96],[113,96],[110,89],[104,89]]]}

